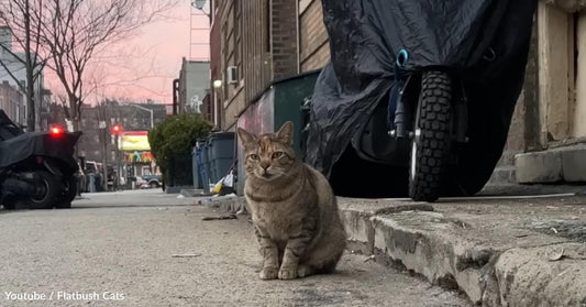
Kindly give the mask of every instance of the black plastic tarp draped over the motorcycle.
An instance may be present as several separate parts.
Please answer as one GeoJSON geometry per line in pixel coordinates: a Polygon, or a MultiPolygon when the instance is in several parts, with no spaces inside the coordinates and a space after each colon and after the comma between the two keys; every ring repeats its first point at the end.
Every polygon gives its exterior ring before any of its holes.
{"type": "Polygon", "coordinates": [[[451,176],[464,194],[479,190],[500,157],[522,87],[537,1],[322,0],[322,6],[331,62],[316,84],[306,162],[332,174],[388,95],[395,56],[406,50],[408,73],[441,66],[463,80],[469,142],[451,176]]]}

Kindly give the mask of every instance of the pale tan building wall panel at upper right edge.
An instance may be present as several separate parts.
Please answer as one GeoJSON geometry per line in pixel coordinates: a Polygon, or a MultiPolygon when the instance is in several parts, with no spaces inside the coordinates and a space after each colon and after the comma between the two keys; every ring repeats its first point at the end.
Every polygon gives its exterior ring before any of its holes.
{"type": "Polygon", "coordinates": [[[586,138],[586,10],[540,1],[540,144],[586,138]]]}

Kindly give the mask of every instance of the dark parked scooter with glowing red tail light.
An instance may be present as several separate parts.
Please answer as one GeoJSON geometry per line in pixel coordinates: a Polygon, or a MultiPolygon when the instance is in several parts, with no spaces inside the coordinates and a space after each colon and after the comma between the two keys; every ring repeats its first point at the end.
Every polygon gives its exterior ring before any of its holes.
{"type": "Polygon", "coordinates": [[[0,204],[4,209],[70,208],[77,195],[74,147],[81,132],[24,132],[0,110],[0,204]]]}

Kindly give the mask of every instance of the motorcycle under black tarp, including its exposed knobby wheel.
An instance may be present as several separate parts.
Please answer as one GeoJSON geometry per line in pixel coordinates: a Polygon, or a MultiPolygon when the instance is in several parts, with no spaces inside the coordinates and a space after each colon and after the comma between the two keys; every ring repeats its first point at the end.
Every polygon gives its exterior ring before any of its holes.
{"type": "Polygon", "coordinates": [[[322,6],[331,63],[314,88],[306,162],[342,195],[477,193],[502,153],[537,1],[322,6]]]}

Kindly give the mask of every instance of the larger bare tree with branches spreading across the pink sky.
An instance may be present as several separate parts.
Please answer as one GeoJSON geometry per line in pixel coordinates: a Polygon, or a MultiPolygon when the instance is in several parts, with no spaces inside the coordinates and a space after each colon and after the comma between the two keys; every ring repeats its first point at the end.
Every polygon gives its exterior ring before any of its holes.
{"type": "MultiPolygon", "coordinates": [[[[43,0],[41,42],[67,96],[66,117],[79,129],[86,73],[97,55],[130,37],[178,0],[43,0]]],[[[91,86],[90,86],[91,89],[91,86]]]]}

